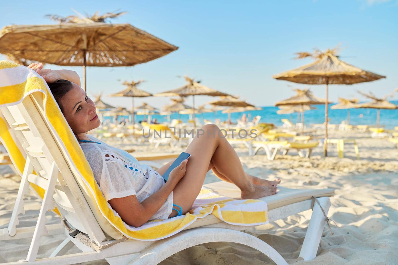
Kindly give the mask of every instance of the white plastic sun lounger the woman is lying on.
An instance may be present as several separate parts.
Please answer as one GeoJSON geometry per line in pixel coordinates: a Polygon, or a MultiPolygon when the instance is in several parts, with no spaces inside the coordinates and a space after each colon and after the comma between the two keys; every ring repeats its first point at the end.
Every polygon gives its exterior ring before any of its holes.
{"type": "MultiPolygon", "coordinates": [[[[56,140],[57,138],[43,118],[43,94],[32,93],[20,104],[3,107],[1,111],[10,130],[20,141],[26,153],[26,164],[10,224],[8,228],[0,231],[0,240],[31,238],[26,260],[4,264],[20,265],[29,262],[62,265],[98,259],[106,259],[110,264],[117,265],[157,264],[170,255],[191,246],[220,241],[250,246],[267,255],[276,264],[287,264],[283,257],[267,243],[239,231],[246,229],[247,226],[226,224],[214,215],[198,219],[184,231],[162,240],[113,239],[109,236],[114,233],[112,226],[100,213],[95,201],[79,182],[79,178],[76,178],[74,168],[65,158],[68,152],[56,140]],[[33,174],[33,170],[36,174],[33,174]],[[23,211],[23,194],[27,192],[29,183],[34,183],[45,190],[43,203],[36,226],[17,228],[18,215],[23,211]],[[54,209],[55,206],[69,228],[65,228],[62,224],[45,224],[46,211],[54,209]],[[79,231],[81,232],[76,234],[79,231]],[[37,259],[40,237],[61,233],[66,235],[66,239],[57,246],[51,256],[37,259]],[[84,238],[86,238],[86,244],[82,243],[84,238]],[[82,252],[65,255],[66,251],[74,245],[82,252]],[[105,248],[105,246],[108,247],[105,248]]],[[[226,182],[206,186],[223,195],[239,196],[236,186],[226,182]]],[[[311,260],[316,256],[326,221],[322,211],[328,213],[329,197],[333,195],[334,191],[330,189],[291,190],[281,187],[276,195],[261,199],[267,202],[270,222],[313,209],[300,251],[300,257],[311,260]],[[318,198],[318,203],[313,204],[313,196],[318,198]]]]}

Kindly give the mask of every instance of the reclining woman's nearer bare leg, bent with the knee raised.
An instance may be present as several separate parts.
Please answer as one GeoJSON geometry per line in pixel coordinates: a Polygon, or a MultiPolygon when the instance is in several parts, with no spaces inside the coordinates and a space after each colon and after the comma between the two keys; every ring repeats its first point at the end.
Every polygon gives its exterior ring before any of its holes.
{"type": "MultiPolygon", "coordinates": [[[[217,171],[241,190],[242,199],[257,199],[276,193],[275,187],[253,184],[246,176],[242,164],[233,147],[222,137],[220,129],[214,124],[202,127],[204,135],[196,137],[187,147],[191,154],[186,166],[185,176],[173,190],[173,201],[187,213],[199,194],[210,161],[217,167],[217,171]],[[221,137],[220,137],[221,136],[221,137]]],[[[174,212],[173,212],[174,213],[174,212]]],[[[175,215],[175,214],[174,214],[175,215]]]]}

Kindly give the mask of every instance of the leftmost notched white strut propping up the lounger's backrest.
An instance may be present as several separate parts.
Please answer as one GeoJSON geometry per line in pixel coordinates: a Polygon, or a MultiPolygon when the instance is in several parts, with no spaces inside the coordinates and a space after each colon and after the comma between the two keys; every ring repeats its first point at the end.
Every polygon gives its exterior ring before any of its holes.
{"type": "Polygon", "coordinates": [[[16,226],[19,224],[18,215],[20,213],[25,213],[23,210],[23,195],[29,194],[29,182],[27,181],[27,176],[33,172],[33,165],[30,162],[29,156],[26,157],[25,168],[23,168],[22,179],[20,188],[18,189],[17,199],[15,201],[14,209],[12,210],[12,215],[10,219],[10,224],[8,224],[8,234],[10,236],[15,236],[17,232],[16,226]]]}

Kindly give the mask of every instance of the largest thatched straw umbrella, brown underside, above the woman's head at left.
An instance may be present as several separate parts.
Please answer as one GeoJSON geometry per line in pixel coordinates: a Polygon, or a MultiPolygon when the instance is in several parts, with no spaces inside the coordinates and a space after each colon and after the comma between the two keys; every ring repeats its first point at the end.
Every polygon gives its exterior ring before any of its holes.
{"type": "Polygon", "coordinates": [[[62,66],[134,66],[162,57],[178,47],[130,24],[103,23],[125,14],[92,17],[48,15],[59,25],[10,25],[0,31],[0,53],[62,66]]]}

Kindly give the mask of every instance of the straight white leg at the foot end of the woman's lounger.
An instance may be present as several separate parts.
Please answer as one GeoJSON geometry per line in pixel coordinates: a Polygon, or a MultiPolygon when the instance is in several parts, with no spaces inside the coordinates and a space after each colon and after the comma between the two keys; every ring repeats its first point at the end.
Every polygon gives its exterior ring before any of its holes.
{"type": "MultiPolygon", "coordinates": [[[[318,198],[318,201],[327,215],[330,207],[329,197],[318,198]]],[[[325,222],[326,219],[320,206],[315,203],[299,257],[307,261],[316,257],[325,222]]]]}

